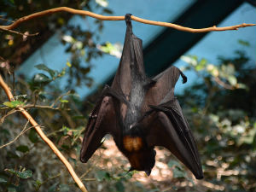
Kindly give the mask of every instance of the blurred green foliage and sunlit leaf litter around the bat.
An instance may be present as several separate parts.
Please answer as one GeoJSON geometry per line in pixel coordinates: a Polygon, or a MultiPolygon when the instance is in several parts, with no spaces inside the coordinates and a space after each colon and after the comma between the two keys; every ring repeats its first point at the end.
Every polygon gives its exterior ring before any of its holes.
{"type": "MultiPolygon", "coordinates": [[[[1,2],[1,8],[8,20],[64,5],[111,14],[111,10],[102,7],[105,1],[96,2],[7,0],[1,2]]],[[[200,77],[177,97],[195,135],[205,178],[196,181],[165,148],[157,148],[156,166],[146,177],[142,172],[127,172],[128,161],[109,137],[87,164],[79,161],[84,126],[95,100],[84,101],[73,87],[90,86],[93,82],[88,76],[93,65],[90,60],[102,55],[96,48],[96,37],[103,26],[97,20],[95,31],[83,30],[68,24],[69,17],[50,15],[19,28],[23,33],[40,32],[38,37],[0,33],[0,73],[15,95],[15,102],[9,102],[0,90],[0,191],[79,191],[55,154],[21,117],[19,106],[44,127],[89,191],[256,190],[256,70],[244,51],[250,49],[250,44],[240,41],[245,46],[243,50],[236,51],[233,58],[219,57],[215,65],[195,55],[182,57],[188,63],[184,70],[193,70],[200,77]],[[38,73],[30,79],[16,75],[20,63],[55,31],[61,32],[62,43],[71,53],[70,61],[63,63],[59,71],[38,63],[38,73]],[[64,79],[64,86],[60,86],[60,79],[64,79]]],[[[0,20],[0,25],[6,22],[0,20]]],[[[107,43],[106,52],[111,52],[111,47],[107,43]]]]}

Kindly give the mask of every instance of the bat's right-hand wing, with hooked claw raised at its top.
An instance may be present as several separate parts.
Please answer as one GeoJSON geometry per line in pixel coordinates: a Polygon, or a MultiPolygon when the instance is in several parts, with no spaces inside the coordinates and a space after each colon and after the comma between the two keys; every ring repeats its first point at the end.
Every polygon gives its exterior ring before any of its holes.
{"type": "Polygon", "coordinates": [[[195,139],[182,108],[174,97],[174,87],[180,74],[186,80],[177,67],[170,67],[154,78],[156,83],[148,90],[149,95],[145,98],[152,110],[143,120],[148,123],[144,126],[146,140],[149,147],[168,148],[196,178],[201,179],[203,173],[195,139]]]}

